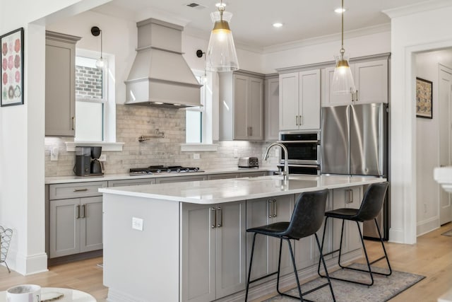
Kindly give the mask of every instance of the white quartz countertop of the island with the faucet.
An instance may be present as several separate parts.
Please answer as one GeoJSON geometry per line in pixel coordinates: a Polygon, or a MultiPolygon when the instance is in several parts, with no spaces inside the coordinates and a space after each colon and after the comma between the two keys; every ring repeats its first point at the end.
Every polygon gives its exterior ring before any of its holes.
{"type": "Polygon", "coordinates": [[[131,197],[163,199],[194,204],[218,204],[244,199],[256,199],[286,194],[368,185],[386,181],[384,178],[345,175],[291,175],[285,183],[280,175],[258,178],[204,180],[157,185],[100,188],[99,192],[131,197]]]}

